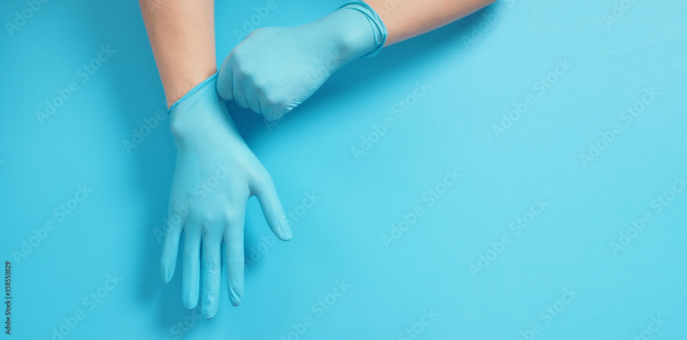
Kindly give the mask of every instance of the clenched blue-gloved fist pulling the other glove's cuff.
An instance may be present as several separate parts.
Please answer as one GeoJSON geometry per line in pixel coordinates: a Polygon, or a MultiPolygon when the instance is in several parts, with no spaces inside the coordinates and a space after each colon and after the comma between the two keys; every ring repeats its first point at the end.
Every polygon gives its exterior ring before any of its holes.
{"type": "Polygon", "coordinates": [[[278,120],[343,65],[379,53],[386,36],[379,16],[362,1],[306,25],[260,28],[224,60],[217,92],[267,120],[278,120]]]}

